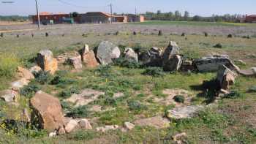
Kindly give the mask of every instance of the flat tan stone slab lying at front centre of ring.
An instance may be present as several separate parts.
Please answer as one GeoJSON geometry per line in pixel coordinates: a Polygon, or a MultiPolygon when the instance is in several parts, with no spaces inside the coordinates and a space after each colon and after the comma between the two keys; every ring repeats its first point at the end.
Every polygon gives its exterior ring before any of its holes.
{"type": "Polygon", "coordinates": [[[170,121],[158,115],[152,118],[144,118],[135,121],[135,126],[153,126],[157,129],[162,129],[170,126],[170,121]]]}

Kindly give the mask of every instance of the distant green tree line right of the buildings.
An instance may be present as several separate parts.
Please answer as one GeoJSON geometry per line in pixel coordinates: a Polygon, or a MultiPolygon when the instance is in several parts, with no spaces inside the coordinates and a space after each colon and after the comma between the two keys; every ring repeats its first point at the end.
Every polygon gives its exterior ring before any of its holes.
{"type": "Polygon", "coordinates": [[[190,16],[188,11],[183,14],[176,10],[175,12],[146,12],[143,14],[146,20],[184,20],[184,21],[207,21],[207,22],[238,22],[239,18],[244,15],[211,15],[210,17],[203,17],[200,15],[190,16]]]}

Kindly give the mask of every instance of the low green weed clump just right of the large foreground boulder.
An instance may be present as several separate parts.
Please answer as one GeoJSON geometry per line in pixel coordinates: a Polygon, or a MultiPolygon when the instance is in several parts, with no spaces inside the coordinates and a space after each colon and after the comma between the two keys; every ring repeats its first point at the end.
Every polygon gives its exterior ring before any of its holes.
{"type": "Polygon", "coordinates": [[[72,118],[86,118],[90,114],[88,107],[86,105],[74,107],[67,113],[67,117],[72,118]]]}

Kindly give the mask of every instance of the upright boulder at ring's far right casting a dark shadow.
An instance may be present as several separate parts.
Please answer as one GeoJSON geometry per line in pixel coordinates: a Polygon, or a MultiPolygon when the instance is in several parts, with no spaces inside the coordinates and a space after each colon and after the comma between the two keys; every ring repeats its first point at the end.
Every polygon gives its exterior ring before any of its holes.
{"type": "Polygon", "coordinates": [[[217,73],[219,88],[228,90],[235,83],[236,76],[236,73],[225,67],[225,65],[220,66],[217,73]]]}

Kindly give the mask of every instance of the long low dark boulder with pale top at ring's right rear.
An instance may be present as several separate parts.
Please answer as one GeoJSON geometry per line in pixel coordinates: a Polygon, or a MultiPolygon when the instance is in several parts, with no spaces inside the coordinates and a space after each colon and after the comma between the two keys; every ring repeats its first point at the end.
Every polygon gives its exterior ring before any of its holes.
{"type": "Polygon", "coordinates": [[[199,72],[217,72],[222,65],[236,72],[240,70],[227,55],[206,56],[196,59],[194,64],[199,72]]]}

